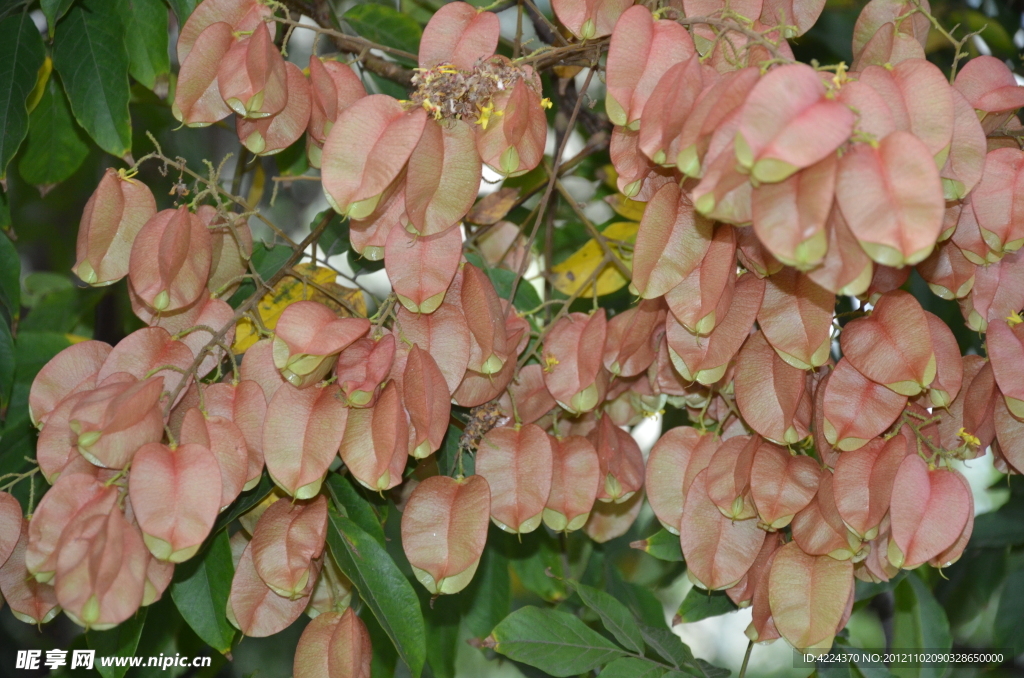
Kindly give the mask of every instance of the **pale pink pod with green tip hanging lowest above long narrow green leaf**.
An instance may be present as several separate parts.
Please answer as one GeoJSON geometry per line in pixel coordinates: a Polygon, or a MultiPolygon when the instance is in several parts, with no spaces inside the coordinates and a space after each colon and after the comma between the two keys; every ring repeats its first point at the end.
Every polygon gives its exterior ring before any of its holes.
{"type": "Polygon", "coordinates": [[[427,591],[458,593],[469,585],[489,514],[490,489],[481,475],[434,475],[416,485],[401,515],[401,547],[427,591]]]}

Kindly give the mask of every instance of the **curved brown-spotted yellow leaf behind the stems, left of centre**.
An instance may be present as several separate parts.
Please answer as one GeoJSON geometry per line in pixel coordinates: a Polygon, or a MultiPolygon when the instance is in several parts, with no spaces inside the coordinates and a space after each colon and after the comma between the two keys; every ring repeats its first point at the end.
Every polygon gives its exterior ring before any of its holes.
{"type": "MultiPolygon", "coordinates": [[[[267,330],[275,328],[281,314],[296,301],[318,301],[341,317],[366,317],[367,301],[362,291],[338,285],[337,273],[330,268],[302,263],[295,266],[295,272],[299,276],[283,278],[256,306],[263,327],[267,330]]],[[[234,345],[231,349],[236,353],[244,353],[259,339],[259,331],[253,322],[243,317],[234,328],[234,345]]]]}

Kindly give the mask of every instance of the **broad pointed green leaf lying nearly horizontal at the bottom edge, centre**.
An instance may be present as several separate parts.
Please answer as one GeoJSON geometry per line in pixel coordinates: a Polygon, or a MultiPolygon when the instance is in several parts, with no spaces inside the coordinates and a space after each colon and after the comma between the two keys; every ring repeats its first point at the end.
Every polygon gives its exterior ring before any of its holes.
{"type": "Polygon", "coordinates": [[[577,676],[625,655],[580,618],[532,605],[506,617],[490,636],[495,651],[552,676],[577,676]]]}

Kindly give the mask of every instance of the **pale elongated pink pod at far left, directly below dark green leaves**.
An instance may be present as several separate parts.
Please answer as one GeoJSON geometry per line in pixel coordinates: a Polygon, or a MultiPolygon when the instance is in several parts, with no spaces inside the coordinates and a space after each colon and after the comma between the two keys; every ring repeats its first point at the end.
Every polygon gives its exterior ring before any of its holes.
{"type": "Polygon", "coordinates": [[[124,171],[108,168],[78,226],[72,272],[88,285],[111,285],[128,274],[132,243],[157,213],[153,192],[124,171]]]}

